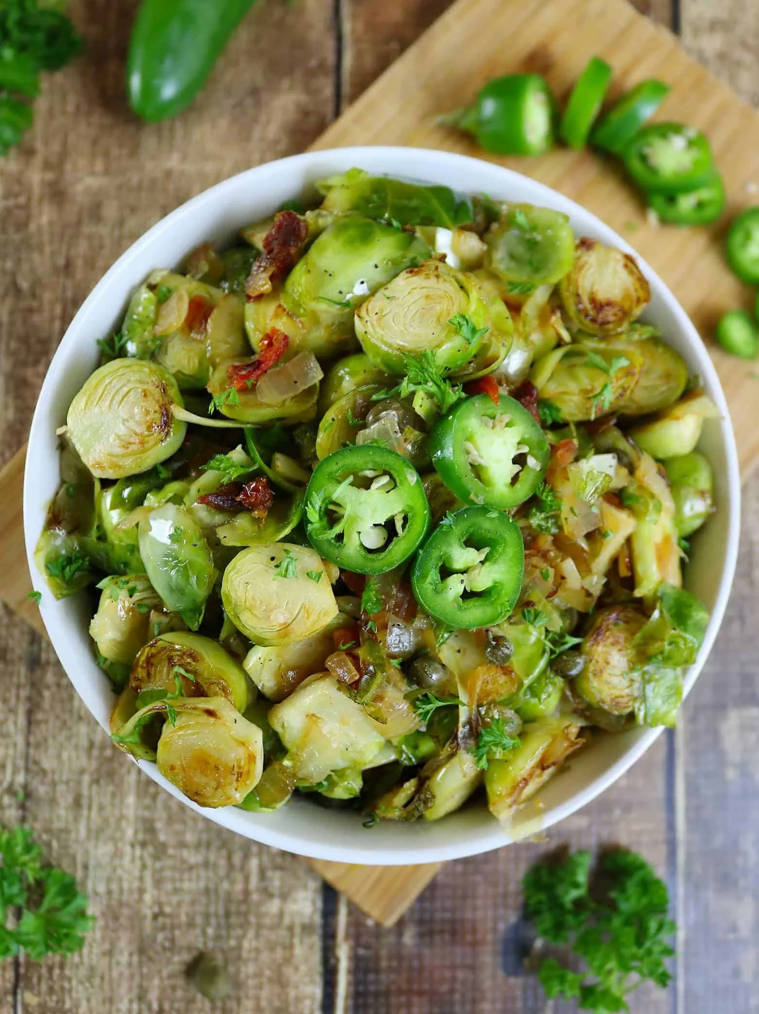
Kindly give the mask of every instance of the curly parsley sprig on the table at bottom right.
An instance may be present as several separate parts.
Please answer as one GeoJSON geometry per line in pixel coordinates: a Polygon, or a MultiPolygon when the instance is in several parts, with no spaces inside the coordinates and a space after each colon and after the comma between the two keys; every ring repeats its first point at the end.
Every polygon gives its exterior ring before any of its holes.
{"type": "Polygon", "coordinates": [[[594,875],[591,863],[589,852],[576,852],[561,863],[533,866],[522,884],[525,912],[539,937],[568,945],[575,955],[572,968],[555,957],[541,962],[546,995],[577,999],[580,1010],[616,1014],[629,1009],[626,997],[641,983],[668,985],[676,927],[668,918],[667,887],[641,856],[608,852],[594,875]]]}

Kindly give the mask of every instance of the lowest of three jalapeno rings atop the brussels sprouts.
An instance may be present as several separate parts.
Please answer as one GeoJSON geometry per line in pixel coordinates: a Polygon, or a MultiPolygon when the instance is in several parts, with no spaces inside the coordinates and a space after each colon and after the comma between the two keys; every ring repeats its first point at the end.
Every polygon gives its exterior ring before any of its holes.
{"type": "Polygon", "coordinates": [[[413,593],[448,627],[491,627],[516,604],[524,558],[515,521],[490,507],[464,507],[443,520],[422,548],[411,570],[413,593]]]}

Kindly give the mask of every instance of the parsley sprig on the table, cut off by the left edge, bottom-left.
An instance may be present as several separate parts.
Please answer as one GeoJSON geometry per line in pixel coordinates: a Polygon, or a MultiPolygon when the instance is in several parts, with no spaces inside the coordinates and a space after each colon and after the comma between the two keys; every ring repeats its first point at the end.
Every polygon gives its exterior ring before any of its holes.
{"type": "Polygon", "coordinates": [[[28,827],[0,829],[0,958],[20,949],[35,961],[46,954],[71,954],[81,949],[94,923],[76,880],[44,866],[42,855],[28,827]]]}

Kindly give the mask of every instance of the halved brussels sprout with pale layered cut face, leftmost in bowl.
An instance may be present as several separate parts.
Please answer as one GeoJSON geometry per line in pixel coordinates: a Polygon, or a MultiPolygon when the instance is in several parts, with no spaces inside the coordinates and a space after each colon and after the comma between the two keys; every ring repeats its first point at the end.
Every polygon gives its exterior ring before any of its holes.
{"type": "Polygon", "coordinates": [[[121,479],[165,461],[186,425],[172,407],[182,401],[176,381],[155,363],[115,359],[100,366],[75,395],[68,432],[82,461],[99,479],[121,479]]]}

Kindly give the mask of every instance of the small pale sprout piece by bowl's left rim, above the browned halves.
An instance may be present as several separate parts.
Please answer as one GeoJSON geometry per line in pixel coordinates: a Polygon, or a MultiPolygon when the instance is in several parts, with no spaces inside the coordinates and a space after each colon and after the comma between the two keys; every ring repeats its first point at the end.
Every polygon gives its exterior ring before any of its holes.
{"type": "Polygon", "coordinates": [[[108,577],[99,587],[102,593],[89,636],[103,659],[130,666],[150,640],[150,613],[161,608],[161,600],[144,574],[108,577]]]}

